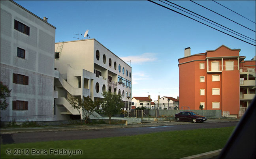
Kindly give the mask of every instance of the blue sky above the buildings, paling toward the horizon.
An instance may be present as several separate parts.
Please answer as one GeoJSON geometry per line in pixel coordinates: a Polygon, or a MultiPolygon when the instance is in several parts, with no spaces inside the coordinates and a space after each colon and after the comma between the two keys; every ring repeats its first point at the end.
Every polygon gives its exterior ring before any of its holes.
{"type": "MultiPolygon", "coordinates": [[[[251,60],[255,56],[255,46],[149,1],[15,0],[15,2],[38,17],[47,17],[48,22],[56,27],[55,42],[77,40],[73,37],[78,35],[73,34],[78,32],[82,34],[79,37],[83,38],[88,29],[90,38],[98,40],[128,64],[131,60],[132,97],[150,94],[153,100],[156,100],[158,95],[177,98],[179,96],[178,59],[184,57],[184,49],[187,47],[191,48],[191,54],[197,54],[226,45],[230,49],[241,49],[240,56],[246,56],[245,60],[251,60]]],[[[155,2],[163,4],[160,1],[155,2]]],[[[255,39],[255,32],[193,2],[171,2],[255,39]]],[[[253,22],[213,1],[195,2],[255,31],[255,23],[253,23],[256,15],[255,1],[216,1],[253,22]]],[[[248,42],[255,45],[255,41],[248,42]]]]}

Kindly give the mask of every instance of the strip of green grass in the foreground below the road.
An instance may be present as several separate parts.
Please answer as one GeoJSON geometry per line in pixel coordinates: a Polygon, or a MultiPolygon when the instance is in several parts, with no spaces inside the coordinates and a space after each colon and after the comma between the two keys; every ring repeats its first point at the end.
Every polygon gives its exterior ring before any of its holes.
{"type": "Polygon", "coordinates": [[[234,129],[224,127],[87,140],[1,144],[1,158],[182,158],[223,148],[234,129]],[[11,155],[8,155],[10,150],[11,155]],[[77,150],[80,155],[69,155],[67,150],[77,150]],[[66,154],[55,155],[54,151],[66,154]],[[13,155],[14,152],[17,155],[13,155]],[[36,152],[39,155],[34,154],[36,152]],[[29,155],[23,155],[25,153],[29,155]]]}

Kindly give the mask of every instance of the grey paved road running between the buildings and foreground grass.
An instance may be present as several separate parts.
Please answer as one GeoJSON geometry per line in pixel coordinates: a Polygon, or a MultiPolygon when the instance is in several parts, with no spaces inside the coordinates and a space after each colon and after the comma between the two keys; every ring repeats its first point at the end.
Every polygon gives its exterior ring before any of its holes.
{"type": "Polygon", "coordinates": [[[101,128],[101,129],[84,129],[69,131],[43,131],[43,132],[23,132],[23,133],[7,133],[1,134],[1,144],[24,143],[24,142],[40,142],[55,140],[78,140],[89,138],[103,137],[119,137],[126,135],[139,135],[146,133],[154,133],[161,131],[178,131],[216,127],[236,126],[238,122],[205,122],[205,123],[189,123],[189,122],[168,122],[161,126],[157,124],[147,124],[138,127],[123,126],[122,128],[101,128]]]}

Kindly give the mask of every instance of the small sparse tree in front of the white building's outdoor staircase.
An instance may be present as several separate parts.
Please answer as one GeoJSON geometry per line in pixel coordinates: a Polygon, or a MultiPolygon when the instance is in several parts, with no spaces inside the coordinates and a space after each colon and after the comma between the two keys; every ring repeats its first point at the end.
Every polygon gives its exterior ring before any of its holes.
{"type": "MultiPolygon", "coordinates": [[[[87,123],[89,116],[97,109],[97,106],[101,104],[101,101],[99,100],[92,101],[92,99],[90,99],[89,96],[87,97],[83,96],[83,99],[81,99],[80,96],[69,97],[68,101],[70,105],[72,105],[72,107],[79,112],[80,116],[82,111],[82,114],[85,116],[84,117],[85,123],[87,123]]],[[[82,118],[81,118],[81,122],[82,122],[82,118]]]]}

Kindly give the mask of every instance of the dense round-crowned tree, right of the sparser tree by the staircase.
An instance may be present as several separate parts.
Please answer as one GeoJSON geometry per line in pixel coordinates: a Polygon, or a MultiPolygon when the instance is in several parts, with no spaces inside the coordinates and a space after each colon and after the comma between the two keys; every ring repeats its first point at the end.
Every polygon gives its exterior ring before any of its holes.
{"type": "Polygon", "coordinates": [[[120,94],[111,94],[111,92],[104,92],[102,103],[102,110],[109,117],[109,124],[111,123],[111,116],[119,114],[124,103],[120,94]]]}

